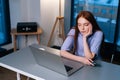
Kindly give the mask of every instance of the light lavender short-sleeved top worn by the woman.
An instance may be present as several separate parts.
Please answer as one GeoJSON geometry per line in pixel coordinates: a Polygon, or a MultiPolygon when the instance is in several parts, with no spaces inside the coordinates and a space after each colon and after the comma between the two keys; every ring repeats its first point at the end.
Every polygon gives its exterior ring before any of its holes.
{"type": "MultiPolygon", "coordinates": [[[[61,50],[71,51],[73,49],[74,34],[75,34],[75,29],[71,29],[61,47],[61,50]]],[[[92,53],[98,55],[102,38],[103,38],[102,31],[96,31],[94,34],[88,37],[87,42],[90,47],[90,51],[92,53]]],[[[84,46],[83,46],[83,39],[81,33],[79,33],[78,35],[77,44],[78,45],[77,45],[77,50],[75,51],[75,55],[84,56],[84,46]]]]}

